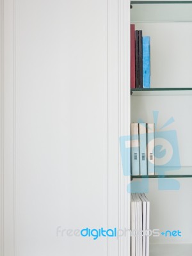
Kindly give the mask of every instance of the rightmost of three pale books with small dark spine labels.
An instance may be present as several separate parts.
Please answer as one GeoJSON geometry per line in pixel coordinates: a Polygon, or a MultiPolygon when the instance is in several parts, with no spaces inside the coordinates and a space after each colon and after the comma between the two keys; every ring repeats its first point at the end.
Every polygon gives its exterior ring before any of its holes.
{"type": "Polygon", "coordinates": [[[155,174],[155,136],[154,124],[147,124],[147,172],[148,175],[155,174]]]}

